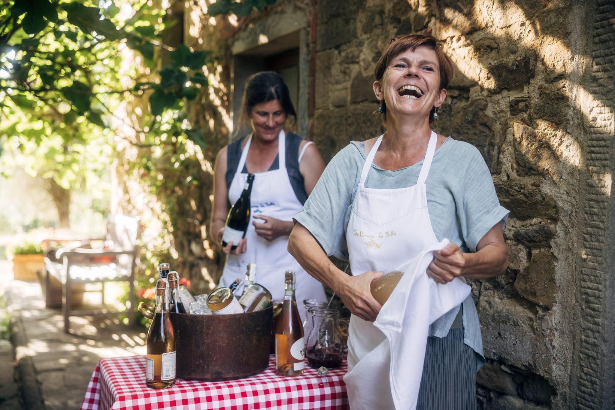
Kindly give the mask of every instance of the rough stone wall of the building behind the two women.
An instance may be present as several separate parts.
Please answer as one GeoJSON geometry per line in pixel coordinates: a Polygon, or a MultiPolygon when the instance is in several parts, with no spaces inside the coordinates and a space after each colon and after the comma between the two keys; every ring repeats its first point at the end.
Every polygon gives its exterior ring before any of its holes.
{"type": "MultiPolygon", "coordinates": [[[[279,0],[237,23],[204,17],[204,0],[186,6],[186,43],[215,50],[220,64],[189,110],[209,144],[198,158],[202,185],[186,193],[198,197],[186,211],[198,216],[198,229],[178,231],[188,235],[180,258],[192,261],[193,277],[221,272],[205,231],[211,167],[231,124],[231,44],[285,7],[311,15],[309,2],[279,0]]],[[[435,130],[482,152],[511,211],[509,269],[472,281],[487,359],[477,380],[480,408],[612,408],[613,3],[319,0],[316,11],[310,120],[327,161],[350,140],[383,131],[371,83],[392,37],[432,33],[453,58],[435,130]]]]}

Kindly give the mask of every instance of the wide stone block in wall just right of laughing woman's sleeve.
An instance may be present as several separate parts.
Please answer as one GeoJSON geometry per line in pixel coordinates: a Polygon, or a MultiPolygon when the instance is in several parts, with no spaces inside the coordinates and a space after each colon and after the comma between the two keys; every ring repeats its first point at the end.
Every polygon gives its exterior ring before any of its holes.
{"type": "Polygon", "coordinates": [[[521,220],[531,218],[558,219],[555,200],[538,187],[513,181],[494,181],[498,199],[510,210],[510,216],[521,220]]]}

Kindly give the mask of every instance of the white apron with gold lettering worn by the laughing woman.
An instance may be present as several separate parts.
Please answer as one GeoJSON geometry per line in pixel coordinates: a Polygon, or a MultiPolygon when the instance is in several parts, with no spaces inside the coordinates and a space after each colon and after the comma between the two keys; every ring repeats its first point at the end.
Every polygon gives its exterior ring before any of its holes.
{"type": "Polygon", "coordinates": [[[352,315],[348,373],[344,376],[351,409],[414,409],[423,372],[429,324],[459,306],[470,286],[459,278],[440,285],[426,274],[438,242],[427,211],[425,181],[434,157],[432,132],[415,186],[365,187],[380,136],[365,160],[352,203],[346,241],[351,272],[405,270],[376,322],[352,315]]]}

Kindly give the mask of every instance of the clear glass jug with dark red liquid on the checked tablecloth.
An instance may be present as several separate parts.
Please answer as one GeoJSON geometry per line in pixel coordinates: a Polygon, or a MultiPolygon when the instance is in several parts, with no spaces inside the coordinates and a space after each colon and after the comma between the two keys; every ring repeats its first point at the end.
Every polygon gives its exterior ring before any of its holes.
{"type": "Polygon", "coordinates": [[[339,334],[339,310],[311,307],[308,310],[311,331],[306,342],[308,364],[315,369],[338,368],[342,364],[343,344],[339,334]]]}

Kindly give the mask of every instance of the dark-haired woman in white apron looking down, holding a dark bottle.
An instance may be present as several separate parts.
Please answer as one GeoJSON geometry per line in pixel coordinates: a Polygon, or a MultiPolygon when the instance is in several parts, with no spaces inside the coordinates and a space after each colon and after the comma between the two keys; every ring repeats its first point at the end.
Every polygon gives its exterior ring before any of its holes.
{"type": "Polygon", "coordinates": [[[292,218],[301,211],[325,163],[314,143],[285,131],[287,117],[296,120],[296,113],[278,74],[265,71],[248,78],[242,105],[253,132],[218,152],[210,234],[221,245],[226,215],[239,199],[248,173],[255,174],[252,220],[245,238],[224,248],[228,256],[220,286],[243,278],[247,264],[254,262],[258,283],[271,291],[274,300],[284,299],[288,269],[296,272],[298,301],[324,300],[322,284],[301,269],[288,253],[287,242],[292,218]],[[232,245],[237,245],[235,250],[232,245]]]}

